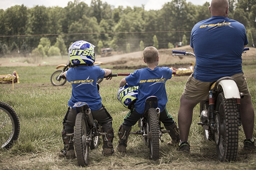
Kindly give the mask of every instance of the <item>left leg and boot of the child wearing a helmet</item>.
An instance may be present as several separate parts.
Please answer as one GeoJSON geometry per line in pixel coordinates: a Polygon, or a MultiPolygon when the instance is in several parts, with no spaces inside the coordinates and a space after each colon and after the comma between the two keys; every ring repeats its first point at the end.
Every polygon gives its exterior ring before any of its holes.
{"type": "Polygon", "coordinates": [[[68,108],[63,119],[63,130],[61,131],[64,149],[59,155],[67,159],[76,158],[73,144],[74,125],[76,121],[76,110],[68,108]]]}

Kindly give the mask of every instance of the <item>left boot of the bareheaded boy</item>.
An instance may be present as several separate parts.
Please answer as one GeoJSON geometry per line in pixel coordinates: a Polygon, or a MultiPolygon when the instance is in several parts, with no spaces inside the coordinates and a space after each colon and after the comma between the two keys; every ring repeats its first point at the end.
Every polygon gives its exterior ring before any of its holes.
{"type": "Polygon", "coordinates": [[[128,141],[128,137],[131,129],[132,127],[120,125],[119,131],[118,131],[118,135],[119,135],[119,140],[117,145],[118,152],[126,152],[127,141],[128,141]]]}

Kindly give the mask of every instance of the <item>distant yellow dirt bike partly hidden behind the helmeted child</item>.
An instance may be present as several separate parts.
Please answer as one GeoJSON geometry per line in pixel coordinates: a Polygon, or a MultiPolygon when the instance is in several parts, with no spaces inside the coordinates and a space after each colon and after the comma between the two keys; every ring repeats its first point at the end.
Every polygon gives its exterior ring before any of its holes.
{"type": "MultiPolygon", "coordinates": [[[[103,63],[102,63],[102,62],[94,62],[93,65],[101,65],[101,64],[103,64],[103,63]]],[[[72,67],[72,66],[71,66],[71,64],[70,64],[70,61],[68,60],[68,62],[67,62],[66,64],[60,64],[60,65],[58,65],[58,66],[56,67],[56,69],[59,69],[59,68],[61,68],[61,67],[63,67],[62,70],[57,70],[57,71],[55,71],[55,72],[51,75],[51,83],[52,83],[54,86],[62,86],[62,85],[64,85],[64,84],[67,82],[66,79],[60,78],[59,76],[60,76],[63,72],[65,72],[66,70],[68,70],[70,67],[72,67]]],[[[97,80],[97,83],[102,82],[102,80],[103,80],[103,78],[99,78],[99,79],[97,80]]]]}

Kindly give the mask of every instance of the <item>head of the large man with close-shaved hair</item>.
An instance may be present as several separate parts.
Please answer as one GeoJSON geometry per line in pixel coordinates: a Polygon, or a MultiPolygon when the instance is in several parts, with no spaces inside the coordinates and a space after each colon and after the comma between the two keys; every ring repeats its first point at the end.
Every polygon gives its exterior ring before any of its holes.
{"type": "Polygon", "coordinates": [[[209,7],[211,16],[228,17],[228,0],[212,0],[209,7]]]}

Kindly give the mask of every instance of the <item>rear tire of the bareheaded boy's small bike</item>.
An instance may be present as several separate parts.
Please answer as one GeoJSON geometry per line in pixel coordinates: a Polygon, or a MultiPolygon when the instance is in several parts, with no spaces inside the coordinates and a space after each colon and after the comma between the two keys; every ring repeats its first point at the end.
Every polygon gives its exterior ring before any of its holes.
{"type": "Polygon", "coordinates": [[[159,121],[157,111],[154,108],[149,109],[149,138],[150,138],[150,159],[159,159],[159,121]]]}

